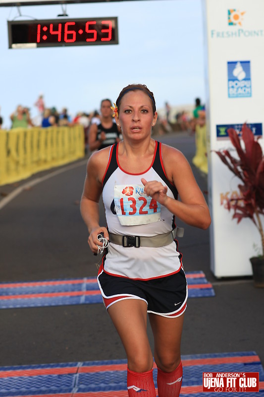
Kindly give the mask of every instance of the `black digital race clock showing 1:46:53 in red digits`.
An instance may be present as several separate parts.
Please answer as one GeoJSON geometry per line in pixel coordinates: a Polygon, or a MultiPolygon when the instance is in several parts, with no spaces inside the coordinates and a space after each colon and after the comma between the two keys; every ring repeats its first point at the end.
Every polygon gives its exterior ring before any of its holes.
{"type": "Polygon", "coordinates": [[[9,48],[118,44],[117,17],[8,21],[9,48]]]}

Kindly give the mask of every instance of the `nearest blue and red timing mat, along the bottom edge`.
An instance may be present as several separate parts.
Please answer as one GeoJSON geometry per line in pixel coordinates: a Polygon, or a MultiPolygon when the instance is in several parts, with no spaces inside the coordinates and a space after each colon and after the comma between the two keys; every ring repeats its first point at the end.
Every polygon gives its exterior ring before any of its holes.
{"type": "MultiPolygon", "coordinates": [[[[255,352],[182,356],[181,396],[204,397],[203,372],[259,372],[264,396],[264,369],[255,352]]],[[[127,397],[126,360],[0,367],[0,397],[127,397]]],[[[154,382],[157,389],[157,368],[154,382]]],[[[158,394],[158,391],[157,391],[158,394]]],[[[206,397],[241,397],[241,393],[206,393],[206,397]]]]}

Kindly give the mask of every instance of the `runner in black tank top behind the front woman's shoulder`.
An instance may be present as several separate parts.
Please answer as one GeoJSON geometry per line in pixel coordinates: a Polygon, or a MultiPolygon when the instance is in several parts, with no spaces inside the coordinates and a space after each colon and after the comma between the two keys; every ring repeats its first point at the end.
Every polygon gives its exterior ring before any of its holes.
{"type": "Polygon", "coordinates": [[[92,124],[89,130],[89,149],[100,150],[119,142],[122,138],[120,129],[112,119],[111,101],[103,99],[101,102],[101,123],[92,124]]]}

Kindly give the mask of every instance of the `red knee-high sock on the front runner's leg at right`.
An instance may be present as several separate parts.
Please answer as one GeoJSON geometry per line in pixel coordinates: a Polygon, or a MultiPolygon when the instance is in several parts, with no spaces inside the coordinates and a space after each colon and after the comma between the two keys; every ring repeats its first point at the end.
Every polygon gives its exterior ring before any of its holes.
{"type": "Polygon", "coordinates": [[[158,368],[158,397],[178,397],[182,384],[182,363],[172,372],[163,372],[158,368]]]}

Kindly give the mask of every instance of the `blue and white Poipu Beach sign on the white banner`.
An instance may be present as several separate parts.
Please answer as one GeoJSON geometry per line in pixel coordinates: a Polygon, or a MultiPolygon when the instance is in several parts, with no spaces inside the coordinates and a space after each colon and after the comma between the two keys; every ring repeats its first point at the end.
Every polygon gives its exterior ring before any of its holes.
{"type": "Polygon", "coordinates": [[[250,61],[227,62],[228,97],[252,96],[250,61]]]}

